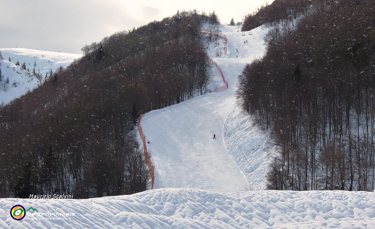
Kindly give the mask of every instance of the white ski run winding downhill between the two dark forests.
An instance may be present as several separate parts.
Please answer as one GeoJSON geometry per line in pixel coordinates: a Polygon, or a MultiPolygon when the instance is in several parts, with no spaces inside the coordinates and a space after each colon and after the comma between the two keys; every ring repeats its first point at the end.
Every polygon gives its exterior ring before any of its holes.
{"type": "MultiPolygon", "coordinates": [[[[151,143],[147,144],[147,147],[151,151],[151,160],[155,167],[154,188],[198,188],[235,192],[250,187],[264,187],[264,176],[258,177],[254,183],[248,162],[238,149],[232,147],[232,143],[228,143],[236,126],[231,127],[232,133],[227,133],[222,121],[228,124],[233,122],[226,119],[234,111],[238,111],[235,97],[237,76],[241,74],[246,63],[264,55],[263,38],[268,31],[260,27],[253,30],[253,35],[242,36],[242,32],[237,32],[234,26],[222,25],[221,30],[228,38],[228,54],[215,57],[223,48],[223,44],[215,45],[216,41],[209,45],[208,54],[222,69],[229,88],[148,112],[142,118],[143,132],[151,143]],[[213,139],[214,133],[216,139],[213,139]]],[[[217,83],[218,79],[221,79],[220,73],[213,65],[211,71],[217,83]]],[[[236,115],[231,117],[236,119],[236,115]]],[[[252,126],[251,118],[247,117],[245,122],[246,126],[252,126]]],[[[236,144],[249,144],[245,141],[251,138],[249,133],[245,131],[241,136],[237,136],[236,144]]],[[[262,137],[264,138],[263,135],[262,137]]],[[[255,144],[251,141],[249,147],[252,147],[253,143],[255,144]]],[[[262,155],[264,150],[258,152],[262,155]]],[[[245,149],[245,153],[253,159],[252,152],[245,149]]],[[[263,175],[267,169],[267,160],[264,161],[262,167],[262,163],[252,160],[255,169],[261,167],[260,172],[263,175]]]]}

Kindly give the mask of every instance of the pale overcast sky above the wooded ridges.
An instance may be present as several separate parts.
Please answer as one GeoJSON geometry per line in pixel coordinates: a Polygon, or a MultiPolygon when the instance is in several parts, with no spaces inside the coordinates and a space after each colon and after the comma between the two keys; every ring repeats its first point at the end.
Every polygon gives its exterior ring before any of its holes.
{"type": "Polygon", "coordinates": [[[0,48],[27,48],[81,54],[81,47],[105,36],[177,10],[215,11],[221,23],[273,0],[0,0],[0,48]]]}

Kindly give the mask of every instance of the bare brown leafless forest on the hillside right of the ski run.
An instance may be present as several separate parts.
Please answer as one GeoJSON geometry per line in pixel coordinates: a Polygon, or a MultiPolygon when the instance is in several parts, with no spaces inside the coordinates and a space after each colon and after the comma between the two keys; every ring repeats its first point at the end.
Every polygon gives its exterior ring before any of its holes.
{"type": "Polygon", "coordinates": [[[372,191],[374,1],[319,0],[301,11],[294,30],[271,30],[266,55],[239,78],[239,105],[278,150],[268,188],[372,191]]]}

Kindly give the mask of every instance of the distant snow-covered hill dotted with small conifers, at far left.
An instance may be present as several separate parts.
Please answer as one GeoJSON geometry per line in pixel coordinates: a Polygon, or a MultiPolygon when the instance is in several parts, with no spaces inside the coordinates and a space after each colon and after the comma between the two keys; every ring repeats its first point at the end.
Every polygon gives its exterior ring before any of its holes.
{"type": "Polygon", "coordinates": [[[0,81],[0,104],[9,103],[12,99],[20,97],[28,90],[32,90],[41,85],[49,76],[49,71],[55,72],[60,66],[68,66],[74,59],[80,58],[82,55],[60,52],[49,52],[34,49],[12,48],[0,49],[3,60],[0,60],[0,68],[2,77],[0,81]],[[10,58],[10,61],[9,61],[10,58]],[[16,62],[20,65],[16,66],[16,62]],[[26,70],[21,65],[26,64],[26,70]],[[34,66],[35,64],[35,66],[34,66]],[[27,69],[29,73],[27,73],[27,69]],[[35,69],[35,74],[33,74],[35,69]],[[36,77],[40,74],[41,80],[36,77]],[[6,79],[9,84],[6,84],[6,79]]]}

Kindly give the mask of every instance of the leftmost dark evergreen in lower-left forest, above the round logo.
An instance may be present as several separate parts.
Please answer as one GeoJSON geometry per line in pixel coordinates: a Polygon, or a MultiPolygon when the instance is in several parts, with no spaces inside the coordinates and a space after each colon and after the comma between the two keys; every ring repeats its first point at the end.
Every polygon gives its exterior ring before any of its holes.
{"type": "Polygon", "coordinates": [[[31,162],[26,161],[21,170],[21,176],[18,177],[14,186],[14,196],[16,198],[28,198],[33,194],[33,175],[31,171],[31,162]]]}

